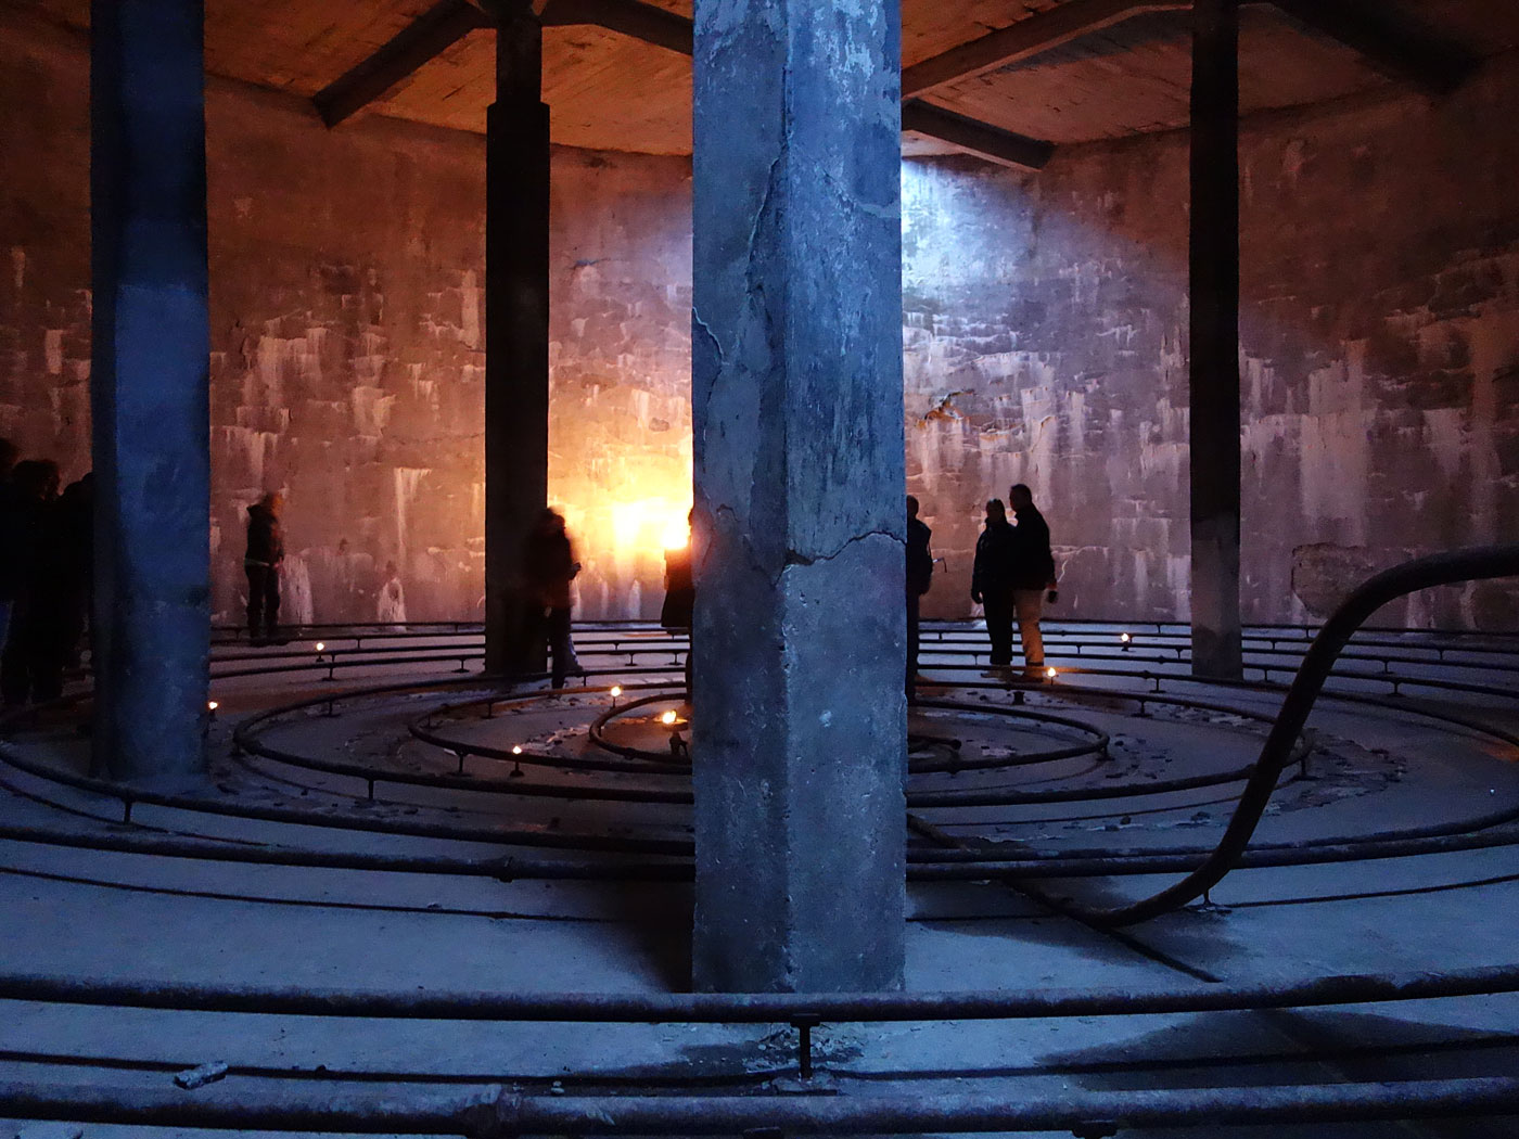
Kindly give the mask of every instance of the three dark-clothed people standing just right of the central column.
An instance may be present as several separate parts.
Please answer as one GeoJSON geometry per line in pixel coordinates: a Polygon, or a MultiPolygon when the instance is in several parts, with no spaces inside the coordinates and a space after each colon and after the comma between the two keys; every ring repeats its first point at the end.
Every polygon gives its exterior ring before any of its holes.
{"type": "MultiPolygon", "coordinates": [[[[907,700],[916,702],[917,620],[924,594],[933,585],[934,557],[930,550],[933,532],[917,519],[917,500],[907,498],[907,700]]],[[[1050,550],[1050,524],[1034,506],[1033,492],[1016,483],[1007,492],[1007,503],[993,498],[986,504],[986,527],[975,542],[975,565],[971,570],[971,600],[986,614],[986,632],[992,641],[987,676],[1013,679],[1013,621],[1024,648],[1024,677],[1037,680],[1044,674],[1044,638],[1039,618],[1048,601],[1059,600],[1054,554],[1050,550]],[[1007,507],[1013,518],[1009,519],[1007,507]]]]}

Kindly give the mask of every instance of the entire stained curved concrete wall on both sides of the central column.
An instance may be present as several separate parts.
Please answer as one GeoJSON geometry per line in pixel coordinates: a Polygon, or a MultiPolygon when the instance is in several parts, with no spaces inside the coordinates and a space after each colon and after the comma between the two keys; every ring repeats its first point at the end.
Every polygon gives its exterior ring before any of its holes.
{"type": "MultiPolygon", "coordinates": [[[[88,465],[82,44],[0,14],[0,434],[88,465]],[[21,112],[9,112],[23,108],[21,112]]],[[[290,615],[482,607],[483,144],[211,82],[216,609],[242,509],[289,491],[290,615]],[[390,568],[393,565],[393,570],[390,568]]],[[[1253,120],[1243,141],[1244,603],[1314,620],[1408,554],[1516,536],[1519,67],[1438,105],[1253,120]]],[[[1185,618],[1186,140],[1018,175],[904,166],[908,486],[969,611],[980,504],[1030,483],[1059,614],[1185,618]]],[[[690,501],[690,162],[554,158],[551,497],[586,617],[653,615],[690,501]]],[[[1519,589],[1388,623],[1519,627],[1519,589]]]]}

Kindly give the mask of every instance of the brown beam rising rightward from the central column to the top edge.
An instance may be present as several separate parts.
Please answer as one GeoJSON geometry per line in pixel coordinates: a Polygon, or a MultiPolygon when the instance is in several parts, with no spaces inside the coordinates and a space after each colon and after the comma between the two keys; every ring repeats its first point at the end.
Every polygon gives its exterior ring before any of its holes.
{"type": "Polygon", "coordinates": [[[1145,12],[1176,12],[1191,6],[1189,0],[1066,0],[1059,8],[1030,15],[980,39],[904,67],[902,99],[1016,64],[1145,12]]]}

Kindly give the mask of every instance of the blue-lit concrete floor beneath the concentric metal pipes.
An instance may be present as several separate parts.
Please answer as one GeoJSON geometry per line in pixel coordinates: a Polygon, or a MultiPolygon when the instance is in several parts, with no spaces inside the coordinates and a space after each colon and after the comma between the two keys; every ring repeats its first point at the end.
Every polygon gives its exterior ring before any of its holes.
{"type": "MultiPolygon", "coordinates": [[[[942,658],[940,664],[949,664],[942,658]]],[[[930,677],[962,679],[963,673],[930,677]]],[[[390,667],[366,677],[403,679],[390,667]]],[[[427,673],[442,676],[444,673],[427,673]]],[[[614,677],[598,677],[609,683],[614,677]]],[[[629,683],[633,679],[630,677],[629,683]]],[[[261,758],[235,756],[231,727],[254,711],[340,693],[311,677],[252,677],[219,685],[208,803],[284,806],[322,819],[399,825],[445,822],[462,829],[512,826],[550,837],[614,834],[653,841],[690,837],[688,808],[516,799],[460,790],[381,784],[366,799],[360,781],[261,758]]],[[[483,689],[392,696],[340,703],[336,715],[276,721],[261,738],[308,756],[374,770],[447,775],[448,752],[409,737],[431,705],[483,689]]],[[[1109,755],[989,771],[917,775],[910,787],[1021,790],[1132,788],[1115,799],[933,808],[921,817],[949,835],[1018,850],[1212,846],[1240,782],[1145,794],[1147,782],[1224,773],[1255,759],[1279,697],[1226,693],[1243,715],[1154,705],[1135,715],[1124,677],[1063,677],[1025,708],[1074,717],[1107,732],[1109,755]],[[1107,688],[1075,694],[1080,686],[1107,688]]],[[[1220,700],[1183,683],[1168,691],[1220,700]]],[[[925,709],[913,730],[936,737],[921,759],[1027,755],[1083,738],[1080,732],[1000,715],[1001,686],[928,693],[984,703],[987,712],[925,709]],[[937,749],[937,750],[936,750],[937,749]]],[[[1428,694],[1425,696],[1428,697],[1428,694]]],[[[1519,730],[1519,702],[1437,694],[1432,708],[1519,730]]],[[[463,711],[439,723],[477,744],[523,743],[567,756],[595,755],[582,730],[609,703],[602,693],[503,708],[489,718],[463,711]]],[[[1501,741],[1408,711],[1325,703],[1312,720],[1312,778],[1284,779],[1258,832],[1261,841],[1364,835],[1460,823],[1519,809],[1519,755],[1501,741]]],[[[656,709],[609,727],[624,743],[659,747],[656,709]]],[[[82,770],[85,741],[67,718],[14,738],[14,755],[53,770],[82,770]]],[[[471,778],[504,776],[478,756],[471,778]]],[[[532,767],[524,782],[667,787],[671,778],[532,767]]],[[[120,805],[46,775],[0,765],[0,820],[55,834],[184,834],[226,843],[301,849],[428,852],[615,863],[644,855],[507,846],[463,838],[378,834],[240,819],[138,803],[131,825],[120,805]]],[[[922,843],[922,838],[914,838],[922,843]]],[[[1174,876],[1053,879],[1057,898],[1085,904],[1139,898],[1174,876]]],[[[1048,987],[1177,987],[1334,973],[1442,970],[1511,964],[1519,913],[1519,847],[1381,861],[1236,870],[1189,907],[1120,932],[1051,913],[1009,884],[910,887],[908,987],[914,992],[1048,987]]],[[[0,972],[74,978],[311,986],[392,992],[671,992],[688,980],[690,888],[658,882],[495,881],[447,875],[248,866],[193,858],[0,841],[0,972]]],[[[1361,1004],[1267,1013],[1066,1018],[1044,1021],[823,1025],[814,1055],[846,1095],[937,1096],[965,1090],[1056,1095],[1074,1090],[1317,1084],[1508,1075],[1519,1062],[1519,996],[1361,1004]]],[[[325,1089],[433,1087],[551,1081],[571,1095],[605,1090],[756,1090],[794,1075],[796,1033],[776,1027],[538,1025],[437,1021],[354,1021],[272,1014],[184,1013],[0,1002],[0,1081],[164,1087],[208,1062],[231,1074],[216,1095],[292,1084],[325,1089]]],[[[196,1092],[184,1092],[194,1096],[196,1092]]],[[[0,1136],[41,1124],[0,1124],[0,1136]]],[[[55,1128],[56,1125],[46,1125],[55,1128]]],[[[211,1131],[74,1125],[87,1136],[190,1136],[211,1131]]],[[[52,1134],[53,1131],[36,1131],[52,1134]]],[[[70,1133],[64,1128],[61,1133],[70,1133]]],[[[254,1134],[254,1133],[245,1133],[254,1134]]],[[[289,1133],[283,1133],[289,1134],[289,1133]]],[[[1124,1136],[1376,1136],[1519,1134],[1516,1119],[1391,1124],[1124,1130],[1124,1136]]]]}

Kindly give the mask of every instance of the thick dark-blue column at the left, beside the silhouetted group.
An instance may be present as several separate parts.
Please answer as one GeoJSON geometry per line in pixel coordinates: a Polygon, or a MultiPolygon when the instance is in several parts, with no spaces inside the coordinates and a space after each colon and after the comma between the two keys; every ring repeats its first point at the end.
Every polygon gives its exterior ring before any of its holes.
{"type": "Polygon", "coordinates": [[[91,6],[96,765],[205,768],[210,328],[201,0],[91,6]]]}

